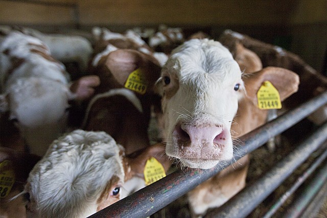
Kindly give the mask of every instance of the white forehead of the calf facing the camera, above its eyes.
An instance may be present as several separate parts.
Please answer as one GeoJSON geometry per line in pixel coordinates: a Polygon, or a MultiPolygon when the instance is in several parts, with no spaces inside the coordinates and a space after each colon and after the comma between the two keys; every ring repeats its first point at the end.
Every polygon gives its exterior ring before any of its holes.
{"type": "Polygon", "coordinates": [[[181,83],[202,77],[215,82],[241,79],[240,67],[226,47],[207,39],[190,40],[177,47],[164,70],[176,74],[181,83]]]}

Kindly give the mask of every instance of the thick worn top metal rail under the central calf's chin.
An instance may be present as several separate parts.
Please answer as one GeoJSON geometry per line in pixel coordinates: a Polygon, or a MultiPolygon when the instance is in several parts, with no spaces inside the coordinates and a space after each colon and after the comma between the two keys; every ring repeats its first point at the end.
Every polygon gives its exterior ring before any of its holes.
{"type": "MultiPolygon", "coordinates": [[[[326,103],[327,92],[324,92],[265,126],[240,137],[242,142],[235,145],[238,154],[234,155],[229,164],[259,148],[269,138],[282,133],[326,103]]],[[[205,170],[178,170],[89,217],[148,217],[213,177],[229,164],[217,165],[205,170]]]]}

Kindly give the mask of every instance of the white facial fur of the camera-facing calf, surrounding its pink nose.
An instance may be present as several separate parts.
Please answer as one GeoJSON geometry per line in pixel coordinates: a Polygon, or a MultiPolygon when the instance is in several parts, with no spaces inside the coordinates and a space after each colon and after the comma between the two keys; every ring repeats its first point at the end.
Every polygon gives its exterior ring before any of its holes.
{"type": "Polygon", "coordinates": [[[230,52],[217,41],[187,41],[172,52],[161,73],[162,77],[165,75],[177,78],[179,83],[177,92],[170,99],[162,100],[168,143],[166,153],[193,168],[210,168],[219,161],[230,159],[232,141],[229,131],[239,98],[233,88],[237,83],[243,84],[240,67],[230,52]],[[178,139],[173,133],[178,123],[222,125],[228,132],[228,146],[222,157],[216,160],[180,157],[178,139]]]}

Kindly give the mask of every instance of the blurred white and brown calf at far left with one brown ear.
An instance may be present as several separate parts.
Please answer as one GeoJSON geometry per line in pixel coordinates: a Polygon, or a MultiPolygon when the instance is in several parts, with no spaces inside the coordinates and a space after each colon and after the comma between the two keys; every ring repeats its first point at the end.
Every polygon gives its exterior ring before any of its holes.
{"type": "Polygon", "coordinates": [[[65,131],[68,102],[88,99],[99,78],[70,83],[43,42],[14,31],[0,45],[0,82],[0,112],[9,112],[30,152],[42,156],[65,131]]]}

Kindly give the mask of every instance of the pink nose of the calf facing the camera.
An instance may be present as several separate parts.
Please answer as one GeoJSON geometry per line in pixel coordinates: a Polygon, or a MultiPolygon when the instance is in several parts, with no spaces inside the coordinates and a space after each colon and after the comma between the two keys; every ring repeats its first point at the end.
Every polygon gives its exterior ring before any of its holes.
{"type": "Polygon", "coordinates": [[[223,125],[180,124],[175,127],[174,137],[181,152],[189,158],[216,159],[222,153],[226,140],[223,125]]]}

